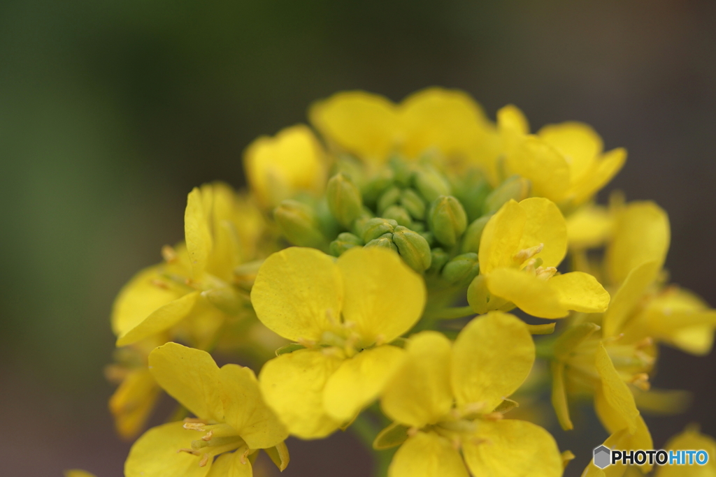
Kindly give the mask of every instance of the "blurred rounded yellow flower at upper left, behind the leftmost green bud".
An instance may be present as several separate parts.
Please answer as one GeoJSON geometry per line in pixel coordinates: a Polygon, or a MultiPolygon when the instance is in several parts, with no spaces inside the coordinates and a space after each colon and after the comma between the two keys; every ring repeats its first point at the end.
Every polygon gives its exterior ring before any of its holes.
{"type": "Polygon", "coordinates": [[[266,208],[298,192],[321,192],[326,179],[324,152],[303,124],[258,137],[243,153],[243,165],[251,192],[266,208]]]}

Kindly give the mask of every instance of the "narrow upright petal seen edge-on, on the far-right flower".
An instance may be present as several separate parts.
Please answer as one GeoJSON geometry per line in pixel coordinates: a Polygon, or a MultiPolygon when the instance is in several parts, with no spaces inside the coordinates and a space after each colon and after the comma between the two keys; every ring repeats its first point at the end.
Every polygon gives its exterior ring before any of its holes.
{"type": "Polygon", "coordinates": [[[661,262],[650,260],[644,262],[629,271],[621,283],[619,290],[616,290],[614,299],[611,300],[609,310],[606,310],[602,326],[604,326],[604,337],[616,336],[624,330],[627,320],[634,313],[634,309],[644,299],[644,293],[649,285],[657,279],[662,268],[661,262]]]}

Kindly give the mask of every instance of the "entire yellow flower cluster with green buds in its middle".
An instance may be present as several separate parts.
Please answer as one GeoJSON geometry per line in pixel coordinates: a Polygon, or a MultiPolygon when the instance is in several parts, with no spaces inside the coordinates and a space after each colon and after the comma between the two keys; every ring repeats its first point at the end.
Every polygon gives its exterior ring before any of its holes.
{"type": "MultiPolygon", "coordinates": [[[[649,388],[658,346],[708,353],[716,311],[667,284],[663,210],[594,204],[624,149],[439,88],[343,92],[309,119],[246,149],[246,192],[193,190],[184,242],[117,297],[117,431],[135,438],[162,392],[178,402],[125,476],[251,476],[261,449],[283,470],[289,435],[338,430],[378,475],[561,476],[574,456],[538,425],[541,390],[562,428],[587,398],[606,446],[654,448],[641,410],[688,400],[649,388]]],[[[693,429],[669,446],[716,452],[693,429]]]]}

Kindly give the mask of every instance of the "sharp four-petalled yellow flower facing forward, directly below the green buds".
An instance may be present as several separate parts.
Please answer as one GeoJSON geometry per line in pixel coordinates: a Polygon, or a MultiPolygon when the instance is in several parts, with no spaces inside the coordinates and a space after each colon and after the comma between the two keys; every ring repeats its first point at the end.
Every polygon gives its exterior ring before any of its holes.
{"type": "Polygon", "coordinates": [[[292,247],[263,263],[251,303],[269,329],[306,346],[263,366],[266,403],[291,434],[320,438],[382,390],[403,356],[387,343],[420,318],[425,284],[388,250],[356,247],[335,260],[292,247]]]}

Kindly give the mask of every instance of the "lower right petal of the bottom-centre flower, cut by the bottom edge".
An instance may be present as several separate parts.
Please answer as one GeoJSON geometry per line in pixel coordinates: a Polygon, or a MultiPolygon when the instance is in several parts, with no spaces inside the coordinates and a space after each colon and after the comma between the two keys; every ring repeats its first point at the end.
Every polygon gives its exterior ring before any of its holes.
{"type": "Polygon", "coordinates": [[[465,462],[474,476],[559,477],[562,458],[550,433],[527,421],[481,421],[463,443],[465,462]]]}

